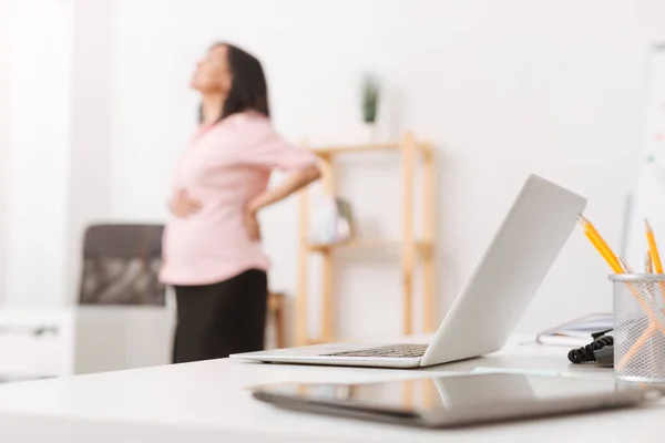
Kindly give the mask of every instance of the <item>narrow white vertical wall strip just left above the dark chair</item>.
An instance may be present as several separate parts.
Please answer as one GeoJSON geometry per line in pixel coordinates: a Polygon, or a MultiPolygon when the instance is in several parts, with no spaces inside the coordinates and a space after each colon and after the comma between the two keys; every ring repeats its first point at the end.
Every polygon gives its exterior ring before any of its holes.
{"type": "Polygon", "coordinates": [[[74,0],[68,299],[76,297],[83,233],[111,217],[113,1],[74,0]]]}

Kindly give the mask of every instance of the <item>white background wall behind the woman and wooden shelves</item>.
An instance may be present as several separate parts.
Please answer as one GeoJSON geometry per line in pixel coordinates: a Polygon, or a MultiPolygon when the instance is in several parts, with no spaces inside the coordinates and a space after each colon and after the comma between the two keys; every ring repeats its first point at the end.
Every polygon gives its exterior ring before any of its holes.
{"type": "MultiPolygon", "coordinates": [[[[78,257],[72,244],[86,220],[165,218],[174,163],[194,127],[187,80],[216,40],[265,62],[275,124],[291,140],[356,142],[360,75],[382,76],[381,135],[412,128],[440,158],[441,313],[530,172],[585,194],[589,216],[618,245],[647,43],[665,33],[665,4],[647,0],[10,3],[18,20],[9,33],[21,51],[10,63],[6,275],[8,300],[21,305],[71,296],[66,282],[76,272],[65,264],[78,257]],[[94,25],[72,35],[72,17],[94,25]]],[[[362,158],[345,171],[341,188],[352,192],[361,228],[396,236],[392,159],[362,158]]],[[[293,292],[294,202],[270,209],[265,222],[272,285],[293,292]]],[[[339,265],[344,334],[397,332],[396,257],[346,257],[339,265]]],[[[606,272],[574,233],[520,329],[611,309],[606,272]]]]}

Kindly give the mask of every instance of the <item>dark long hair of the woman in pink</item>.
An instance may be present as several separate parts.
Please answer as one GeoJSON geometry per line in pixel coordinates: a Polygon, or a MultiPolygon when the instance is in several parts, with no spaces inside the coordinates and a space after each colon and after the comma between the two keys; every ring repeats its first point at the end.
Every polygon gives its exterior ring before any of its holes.
{"type": "MultiPolygon", "coordinates": [[[[224,102],[219,121],[246,111],[255,111],[270,117],[268,85],[260,62],[254,55],[233,44],[219,42],[215,43],[213,48],[219,45],[228,48],[228,68],[232,78],[231,91],[224,102]]],[[[202,111],[198,112],[200,122],[203,122],[202,111]]]]}

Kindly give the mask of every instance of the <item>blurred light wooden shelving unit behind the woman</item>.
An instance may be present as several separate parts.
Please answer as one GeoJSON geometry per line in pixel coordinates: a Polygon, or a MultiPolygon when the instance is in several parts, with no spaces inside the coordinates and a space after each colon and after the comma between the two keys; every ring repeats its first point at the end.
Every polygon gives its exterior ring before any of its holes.
{"type": "Polygon", "coordinates": [[[299,281],[297,295],[297,341],[298,344],[326,343],[335,341],[332,255],[339,249],[371,250],[398,248],[401,253],[402,276],[402,333],[413,333],[413,275],[418,258],[422,267],[422,326],[424,332],[434,328],[434,207],[436,207],[436,162],[429,143],[416,141],[407,133],[399,143],[368,144],[355,146],[318,147],[314,150],[323,165],[323,185],[327,193],[336,194],[335,159],[340,155],[367,153],[374,151],[395,151],[400,155],[401,179],[403,186],[402,238],[399,241],[382,239],[354,238],[349,241],[317,245],[309,243],[309,195],[300,193],[300,237],[299,237],[299,281]],[[415,234],[415,174],[422,167],[423,226],[422,238],[415,234]],[[323,258],[320,287],[320,337],[313,340],[308,332],[308,261],[310,254],[323,258]]]}

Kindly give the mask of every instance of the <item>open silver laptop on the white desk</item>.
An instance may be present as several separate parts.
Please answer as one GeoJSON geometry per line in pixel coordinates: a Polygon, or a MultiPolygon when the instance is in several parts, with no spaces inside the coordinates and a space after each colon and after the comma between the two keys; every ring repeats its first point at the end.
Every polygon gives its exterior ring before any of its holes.
{"type": "Polygon", "coordinates": [[[269,363],[419,368],[498,351],[585,206],[585,198],[540,176],[529,176],[429,344],[329,343],[231,357],[269,363]]]}

